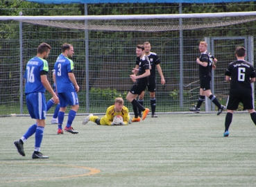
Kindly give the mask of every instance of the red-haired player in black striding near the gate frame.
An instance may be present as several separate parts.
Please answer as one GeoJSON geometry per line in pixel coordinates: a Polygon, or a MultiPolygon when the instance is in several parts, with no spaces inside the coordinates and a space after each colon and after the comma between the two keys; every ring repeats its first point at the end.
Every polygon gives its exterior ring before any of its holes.
{"type": "Polygon", "coordinates": [[[214,69],[216,68],[215,64],[217,60],[207,51],[206,42],[200,42],[199,51],[201,54],[200,57],[196,59],[196,62],[198,63],[199,67],[200,96],[198,98],[197,105],[194,105],[194,107],[189,110],[196,113],[200,112],[200,106],[202,105],[203,101],[205,101],[205,96],[207,96],[207,98],[210,98],[212,103],[218,107],[217,115],[219,115],[223,112],[225,106],[221,105],[216,96],[212,94],[210,86],[210,82],[212,80],[212,67],[214,67],[214,69]]]}

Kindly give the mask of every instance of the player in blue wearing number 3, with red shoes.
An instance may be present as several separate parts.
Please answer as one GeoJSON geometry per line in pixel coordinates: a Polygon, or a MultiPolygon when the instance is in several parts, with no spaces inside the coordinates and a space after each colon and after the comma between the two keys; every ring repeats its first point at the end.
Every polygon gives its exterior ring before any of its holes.
{"type": "Polygon", "coordinates": [[[53,71],[53,80],[56,84],[56,90],[60,99],[57,134],[63,134],[62,123],[67,105],[71,105],[71,110],[69,111],[65,131],[72,134],[77,134],[78,132],[71,127],[71,124],[76,117],[76,112],[79,108],[78,96],[76,94],[76,92],[79,91],[79,87],[73,73],[74,62],[70,59],[74,54],[74,48],[71,44],[65,43],[62,45],[61,49],[62,54],[58,56],[56,63],[54,64],[55,71],[53,71]]]}

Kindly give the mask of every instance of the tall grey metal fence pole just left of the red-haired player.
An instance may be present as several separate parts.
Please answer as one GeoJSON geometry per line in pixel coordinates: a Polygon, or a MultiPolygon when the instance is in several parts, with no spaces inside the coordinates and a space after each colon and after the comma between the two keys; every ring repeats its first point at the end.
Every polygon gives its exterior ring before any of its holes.
{"type": "MultiPolygon", "coordinates": [[[[182,3],[179,3],[179,13],[182,14],[182,3]]],[[[182,18],[180,22],[180,108],[183,108],[183,30],[182,18]]]]}

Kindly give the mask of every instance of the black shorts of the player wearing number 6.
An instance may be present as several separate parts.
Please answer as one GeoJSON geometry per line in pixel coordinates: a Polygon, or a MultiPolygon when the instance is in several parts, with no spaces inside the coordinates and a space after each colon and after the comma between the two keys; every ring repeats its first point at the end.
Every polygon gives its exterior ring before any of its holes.
{"type": "Polygon", "coordinates": [[[243,103],[244,110],[254,109],[253,96],[228,96],[227,109],[236,110],[240,102],[243,103]]]}

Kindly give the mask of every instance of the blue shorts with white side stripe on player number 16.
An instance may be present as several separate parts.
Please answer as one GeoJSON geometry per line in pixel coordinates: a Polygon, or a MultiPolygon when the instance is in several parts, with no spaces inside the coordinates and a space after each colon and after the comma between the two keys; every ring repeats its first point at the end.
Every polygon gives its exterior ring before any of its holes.
{"type": "Polygon", "coordinates": [[[26,94],[26,106],[33,119],[45,119],[46,117],[46,100],[44,93],[26,94]]]}

